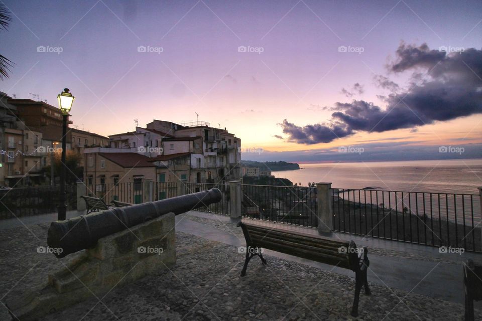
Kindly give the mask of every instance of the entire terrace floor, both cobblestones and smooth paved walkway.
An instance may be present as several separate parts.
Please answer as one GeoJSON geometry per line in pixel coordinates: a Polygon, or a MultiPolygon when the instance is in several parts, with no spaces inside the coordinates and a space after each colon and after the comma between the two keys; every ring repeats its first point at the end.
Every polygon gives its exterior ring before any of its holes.
{"type": "MultiPolygon", "coordinates": [[[[48,222],[55,217],[0,221],[1,301],[40,286],[49,271],[77,256],[37,253],[38,246],[46,246],[48,222]]],[[[43,320],[461,320],[462,261],[481,261],[480,254],[444,254],[437,248],[337,234],[333,237],[369,247],[373,294],[360,295],[359,316],[353,318],[351,271],[266,250],[268,266],[255,257],[247,276],[239,277],[244,254],[237,247],[245,242],[235,223],[196,211],[177,216],[175,268],[43,320]]],[[[476,319],[482,319],[482,305],[475,306],[476,319]]]]}

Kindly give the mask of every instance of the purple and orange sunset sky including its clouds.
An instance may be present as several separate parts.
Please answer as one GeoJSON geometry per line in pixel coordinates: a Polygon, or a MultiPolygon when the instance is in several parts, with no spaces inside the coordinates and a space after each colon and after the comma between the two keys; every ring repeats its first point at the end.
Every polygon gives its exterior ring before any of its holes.
{"type": "Polygon", "coordinates": [[[15,63],[0,91],[56,105],[67,87],[80,129],[197,112],[264,151],[245,159],[482,157],[479,1],[0,2],[15,63]]]}

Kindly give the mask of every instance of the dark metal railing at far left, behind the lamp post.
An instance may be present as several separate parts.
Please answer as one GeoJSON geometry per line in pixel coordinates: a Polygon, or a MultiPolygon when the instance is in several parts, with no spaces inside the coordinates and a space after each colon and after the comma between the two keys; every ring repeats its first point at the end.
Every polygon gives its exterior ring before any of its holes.
{"type": "MultiPolygon", "coordinates": [[[[65,186],[67,210],[77,209],[77,187],[65,186]]],[[[0,219],[57,212],[60,187],[38,186],[0,191],[0,219]]]]}

